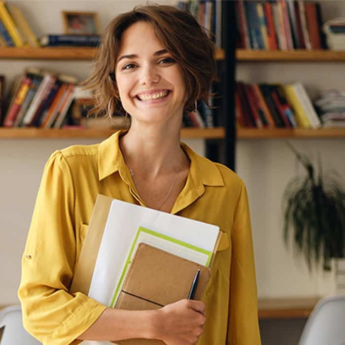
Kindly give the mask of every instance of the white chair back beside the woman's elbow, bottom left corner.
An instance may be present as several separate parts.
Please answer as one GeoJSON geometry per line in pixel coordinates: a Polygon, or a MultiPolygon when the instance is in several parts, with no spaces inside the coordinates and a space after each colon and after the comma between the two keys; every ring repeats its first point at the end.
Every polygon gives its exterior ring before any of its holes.
{"type": "Polygon", "coordinates": [[[11,306],[0,311],[0,328],[4,327],[0,345],[39,345],[23,327],[20,306],[11,306]]]}

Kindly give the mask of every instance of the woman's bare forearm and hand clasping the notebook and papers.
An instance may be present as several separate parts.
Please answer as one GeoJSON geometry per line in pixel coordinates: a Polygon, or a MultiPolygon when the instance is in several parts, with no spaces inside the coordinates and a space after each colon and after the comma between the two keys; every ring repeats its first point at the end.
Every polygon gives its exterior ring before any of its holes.
{"type": "Polygon", "coordinates": [[[78,339],[160,339],[169,345],[196,344],[205,324],[205,305],[181,300],[155,311],[107,308],[78,339]]]}

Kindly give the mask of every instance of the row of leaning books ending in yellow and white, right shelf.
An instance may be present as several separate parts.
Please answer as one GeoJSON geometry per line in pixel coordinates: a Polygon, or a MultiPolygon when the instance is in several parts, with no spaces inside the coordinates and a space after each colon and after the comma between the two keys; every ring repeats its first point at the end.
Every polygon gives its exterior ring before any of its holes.
{"type": "Polygon", "coordinates": [[[236,83],[236,119],[247,128],[319,128],[321,121],[301,82],[236,83]]]}

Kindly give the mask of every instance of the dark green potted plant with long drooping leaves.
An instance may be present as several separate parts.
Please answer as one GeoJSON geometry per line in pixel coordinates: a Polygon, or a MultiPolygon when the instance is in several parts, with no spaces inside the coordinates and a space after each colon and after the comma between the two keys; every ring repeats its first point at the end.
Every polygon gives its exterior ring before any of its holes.
{"type": "Polygon", "coordinates": [[[306,169],[303,177],[294,177],[283,195],[284,241],[292,232],[294,245],[312,263],[331,270],[331,259],[345,257],[345,190],[336,174],[324,177],[319,159],[318,175],[307,155],[287,143],[306,169]]]}

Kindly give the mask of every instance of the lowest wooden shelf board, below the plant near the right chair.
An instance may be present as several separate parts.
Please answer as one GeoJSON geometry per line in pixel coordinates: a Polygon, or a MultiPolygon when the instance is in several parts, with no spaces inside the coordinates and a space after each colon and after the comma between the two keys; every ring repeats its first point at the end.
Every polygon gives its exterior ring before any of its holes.
{"type": "Polygon", "coordinates": [[[259,299],[259,319],[308,317],[319,300],[319,297],[259,299]]]}

